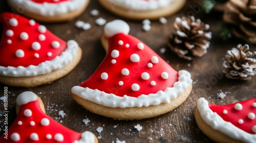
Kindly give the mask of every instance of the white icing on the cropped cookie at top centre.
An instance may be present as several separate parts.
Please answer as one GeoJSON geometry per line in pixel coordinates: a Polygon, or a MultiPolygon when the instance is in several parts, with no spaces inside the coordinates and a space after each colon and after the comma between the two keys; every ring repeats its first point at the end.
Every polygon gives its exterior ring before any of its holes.
{"type": "Polygon", "coordinates": [[[121,6],[123,8],[131,10],[154,10],[162,7],[166,7],[173,1],[180,0],[149,0],[149,1],[139,1],[139,0],[108,0],[113,6],[121,6]]]}

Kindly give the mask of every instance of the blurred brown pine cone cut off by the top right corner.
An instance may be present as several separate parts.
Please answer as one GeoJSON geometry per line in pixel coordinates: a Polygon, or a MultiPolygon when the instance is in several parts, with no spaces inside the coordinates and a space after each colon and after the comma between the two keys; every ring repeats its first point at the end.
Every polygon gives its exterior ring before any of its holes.
{"type": "Polygon", "coordinates": [[[256,0],[229,0],[223,20],[233,25],[234,36],[256,43],[256,0]]]}

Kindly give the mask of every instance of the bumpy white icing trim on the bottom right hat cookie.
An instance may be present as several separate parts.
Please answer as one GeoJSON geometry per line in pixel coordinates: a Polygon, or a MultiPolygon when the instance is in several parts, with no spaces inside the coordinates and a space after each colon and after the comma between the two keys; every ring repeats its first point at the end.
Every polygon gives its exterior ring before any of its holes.
{"type": "Polygon", "coordinates": [[[224,121],[222,117],[209,108],[208,102],[204,98],[198,99],[197,108],[203,121],[212,129],[220,131],[233,139],[244,142],[256,142],[256,134],[247,133],[230,122],[224,121]]]}

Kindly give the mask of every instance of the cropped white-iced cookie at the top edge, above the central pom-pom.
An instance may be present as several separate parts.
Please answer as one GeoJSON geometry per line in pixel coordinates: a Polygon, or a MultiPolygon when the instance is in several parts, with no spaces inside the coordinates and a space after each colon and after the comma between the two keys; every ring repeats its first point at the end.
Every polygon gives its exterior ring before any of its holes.
{"type": "Polygon", "coordinates": [[[143,20],[172,15],[185,5],[186,0],[99,0],[99,3],[121,17],[143,20]]]}

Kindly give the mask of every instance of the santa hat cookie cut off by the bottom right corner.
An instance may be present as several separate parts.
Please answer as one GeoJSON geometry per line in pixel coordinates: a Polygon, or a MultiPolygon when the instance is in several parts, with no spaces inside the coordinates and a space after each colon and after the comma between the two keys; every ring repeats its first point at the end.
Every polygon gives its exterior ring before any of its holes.
{"type": "Polygon", "coordinates": [[[229,105],[212,105],[204,98],[197,101],[198,127],[216,142],[256,142],[256,99],[229,105]]]}

